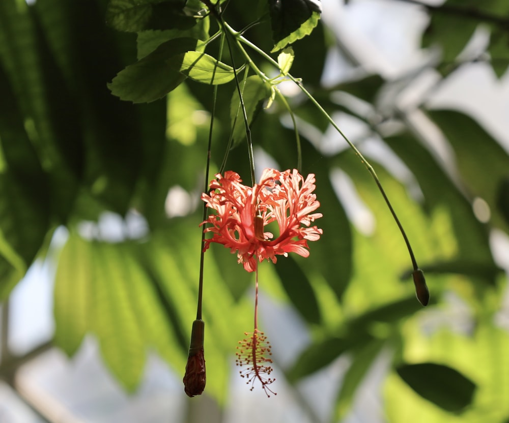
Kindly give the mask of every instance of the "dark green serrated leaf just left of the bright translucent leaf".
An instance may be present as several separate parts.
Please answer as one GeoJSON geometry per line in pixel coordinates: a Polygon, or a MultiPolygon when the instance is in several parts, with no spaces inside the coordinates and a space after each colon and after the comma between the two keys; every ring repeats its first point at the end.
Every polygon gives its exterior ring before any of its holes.
{"type": "Polygon", "coordinates": [[[148,103],[171,92],[186,77],[180,72],[184,53],[194,50],[197,40],[176,38],[120,71],[108,83],[111,93],[133,103],[148,103]]]}

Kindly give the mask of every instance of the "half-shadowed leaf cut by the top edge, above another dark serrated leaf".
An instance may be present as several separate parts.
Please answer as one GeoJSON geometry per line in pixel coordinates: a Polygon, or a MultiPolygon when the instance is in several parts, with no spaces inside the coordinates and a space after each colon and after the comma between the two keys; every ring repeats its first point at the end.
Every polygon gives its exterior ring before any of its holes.
{"type": "Polygon", "coordinates": [[[106,23],[118,31],[190,28],[196,20],[183,12],[183,0],[111,0],[106,23]]]}

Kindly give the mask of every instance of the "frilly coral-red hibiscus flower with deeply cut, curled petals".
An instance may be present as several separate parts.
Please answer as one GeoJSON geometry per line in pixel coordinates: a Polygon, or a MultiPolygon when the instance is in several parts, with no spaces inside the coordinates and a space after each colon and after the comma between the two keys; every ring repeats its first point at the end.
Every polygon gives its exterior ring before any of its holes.
{"type": "Polygon", "coordinates": [[[270,259],[275,263],[276,255],[309,255],[307,241],[316,241],[323,233],[316,226],[310,227],[311,222],[322,217],[321,213],[312,213],[320,206],[313,194],[314,174],[304,180],[296,169],[265,169],[254,187],[242,185],[242,179],[233,171],[215,176],[210,195],[202,194],[207,207],[216,211],[202,223],[209,223],[205,232],[213,233],[205,240],[205,249],[210,243],[230,248],[232,253],[237,252],[239,263],[247,271],[256,270],[257,260],[270,259]],[[264,232],[264,227],[274,221],[279,226],[276,238],[271,232],[264,232]]]}

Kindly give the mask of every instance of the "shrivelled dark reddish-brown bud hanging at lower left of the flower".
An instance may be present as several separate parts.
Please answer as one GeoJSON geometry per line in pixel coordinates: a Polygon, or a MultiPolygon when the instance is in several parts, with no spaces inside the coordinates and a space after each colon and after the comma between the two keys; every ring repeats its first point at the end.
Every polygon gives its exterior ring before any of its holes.
{"type": "Polygon", "coordinates": [[[187,357],[186,374],[184,375],[184,390],[189,397],[201,395],[205,389],[205,355],[203,341],[205,337],[205,322],[194,320],[192,322],[191,342],[187,357]]]}

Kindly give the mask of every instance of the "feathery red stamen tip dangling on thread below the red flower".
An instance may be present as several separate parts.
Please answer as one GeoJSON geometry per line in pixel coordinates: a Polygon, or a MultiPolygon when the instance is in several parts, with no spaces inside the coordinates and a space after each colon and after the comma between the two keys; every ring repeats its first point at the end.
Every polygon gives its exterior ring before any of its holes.
{"type": "Polygon", "coordinates": [[[272,359],[269,358],[272,355],[270,342],[267,341],[264,333],[258,329],[254,329],[252,334],[245,332],[244,335],[250,335],[250,337],[239,341],[240,345],[237,347],[235,364],[248,367],[239,371],[240,376],[247,379],[246,384],[251,384],[250,390],[254,389],[254,382],[258,379],[267,397],[270,397],[269,392],[277,395],[268,387],[275,380],[275,378],[270,377],[272,373],[272,367],[270,366],[272,359]]]}

